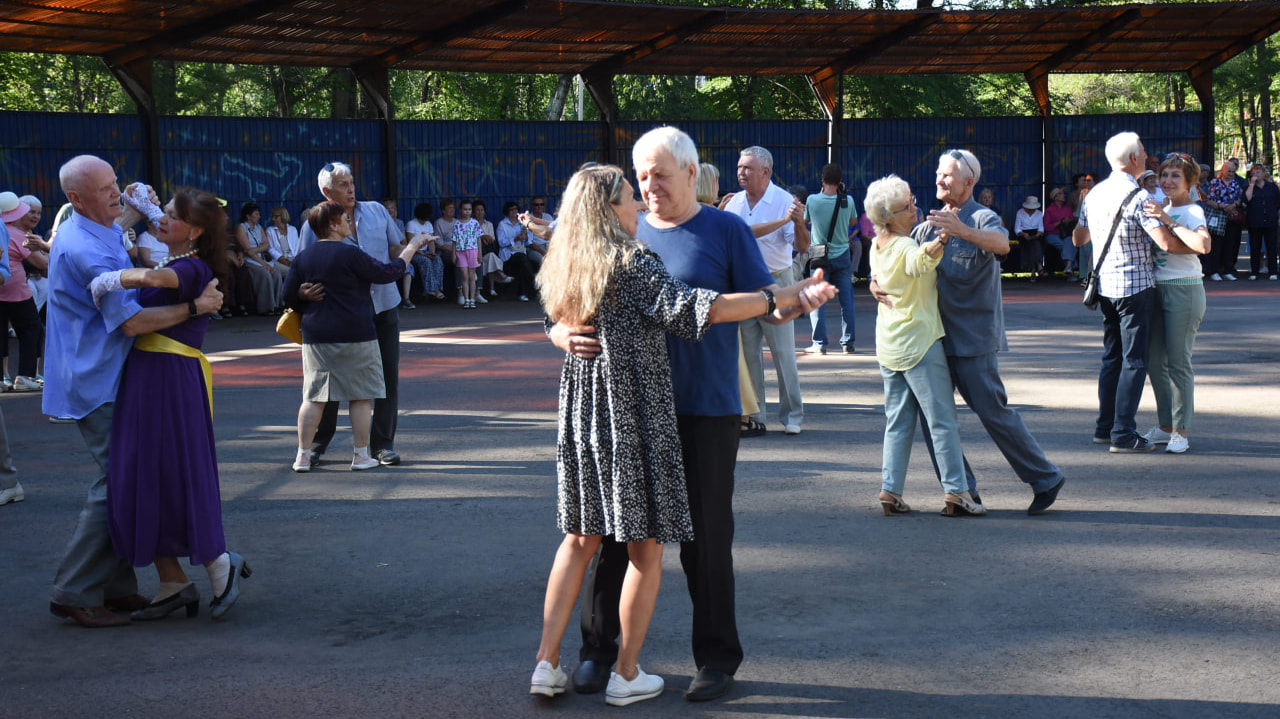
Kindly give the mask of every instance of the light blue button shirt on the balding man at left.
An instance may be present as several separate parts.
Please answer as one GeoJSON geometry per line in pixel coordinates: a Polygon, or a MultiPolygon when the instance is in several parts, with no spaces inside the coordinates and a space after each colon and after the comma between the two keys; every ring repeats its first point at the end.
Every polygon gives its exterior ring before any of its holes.
{"type": "Polygon", "coordinates": [[[49,253],[49,310],[45,322],[44,412],[83,418],[115,402],[133,338],[120,325],[142,311],[137,292],[109,292],[93,304],[88,283],[102,273],[133,266],[119,225],[100,225],[72,212],[58,228],[49,253]]]}

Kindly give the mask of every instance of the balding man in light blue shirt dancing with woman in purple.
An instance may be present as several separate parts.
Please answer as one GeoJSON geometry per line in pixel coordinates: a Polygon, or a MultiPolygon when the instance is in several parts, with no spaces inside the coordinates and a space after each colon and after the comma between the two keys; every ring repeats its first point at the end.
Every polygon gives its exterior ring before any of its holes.
{"type": "Polygon", "coordinates": [[[101,307],[95,304],[90,281],[133,266],[116,220],[128,226],[141,217],[133,210],[122,216],[115,170],[99,157],[73,157],[59,171],[59,182],[74,211],[60,225],[49,257],[44,411],[77,421],[101,473],[54,578],[50,612],[82,627],[115,627],[129,618],[113,610],[147,605],[137,595],[133,568],[116,557],[106,528],[108,446],[120,371],[134,336],[216,312],[223,296],[215,280],[186,304],[143,308],[134,290],[110,292],[101,307]]]}

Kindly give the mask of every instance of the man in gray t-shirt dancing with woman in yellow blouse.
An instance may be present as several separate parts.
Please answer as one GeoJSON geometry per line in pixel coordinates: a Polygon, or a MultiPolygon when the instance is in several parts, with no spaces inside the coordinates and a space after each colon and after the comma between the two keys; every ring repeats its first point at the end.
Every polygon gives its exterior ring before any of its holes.
{"type": "MultiPolygon", "coordinates": [[[[938,313],[947,333],[942,348],[951,381],[1018,477],[1036,493],[1027,513],[1041,514],[1057,499],[1062,471],[1044,457],[1021,416],[1009,407],[996,360],[997,352],[1009,349],[997,258],[1009,253],[1009,230],[1001,226],[998,215],[973,198],[973,188],[982,177],[982,165],[973,152],[943,152],[936,177],[937,197],[945,207],[931,211],[913,234],[916,242],[931,241],[934,234],[950,237],[938,265],[938,313]]],[[[873,285],[873,294],[881,299],[878,287],[873,285]]],[[[920,422],[924,423],[923,415],[920,422]]],[[[929,444],[928,431],[924,440],[929,444]]],[[[932,444],[929,458],[933,458],[932,444]]],[[[937,467],[934,462],[934,472],[937,467]]],[[[977,502],[977,480],[968,459],[965,475],[977,502]]]]}

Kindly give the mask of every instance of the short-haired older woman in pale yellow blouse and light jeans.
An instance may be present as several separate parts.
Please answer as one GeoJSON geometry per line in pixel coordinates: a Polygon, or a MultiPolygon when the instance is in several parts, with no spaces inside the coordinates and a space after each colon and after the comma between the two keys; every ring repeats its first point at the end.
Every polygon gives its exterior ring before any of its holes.
{"type": "Polygon", "coordinates": [[[879,303],[876,316],[876,360],[884,380],[886,420],[881,508],[884,514],[911,510],[902,502],[902,486],[915,440],[915,418],[923,412],[946,491],[945,512],[986,514],[987,509],[973,500],[965,484],[951,372],[942,351],[946,333],[938,315],[936,271],[948,238],[938,234],[925,244],[911,239],[915,196],[896,175],[867,188],[865,209],[876,226],[872,276],[890,296],[890,302],[879,303]]]}

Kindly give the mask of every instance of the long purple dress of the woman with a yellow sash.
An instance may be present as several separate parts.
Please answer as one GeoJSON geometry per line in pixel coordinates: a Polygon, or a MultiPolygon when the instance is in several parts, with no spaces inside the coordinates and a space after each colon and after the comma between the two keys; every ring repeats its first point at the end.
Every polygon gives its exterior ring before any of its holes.
{"type": "MultiPolygon", "coordinates": [[[[195,299],[214,273],[204,260],[169,265],[178,289],[143,288],[143,307],[195,299]]],[[[209,315],[160,334],[200,349],[209,315]]],[[[115,551],[134,567],[156,557],[189,557],[192,565],[227,551],[214,422],[200,361],[131,349],[115,395],[106,502],[115,551]]]]}

